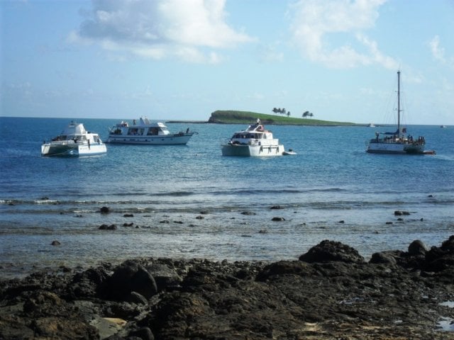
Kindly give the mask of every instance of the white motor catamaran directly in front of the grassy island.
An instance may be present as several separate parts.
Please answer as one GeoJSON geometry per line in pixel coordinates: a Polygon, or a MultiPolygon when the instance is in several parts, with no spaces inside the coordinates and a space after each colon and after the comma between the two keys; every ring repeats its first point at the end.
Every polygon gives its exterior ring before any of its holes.
{"type": "Polygon", "coordinates": [[[249,125],[246,130],[235,132],[225,145],[222,145],[223,156],[282,156],[284,145],[273,137],[270,130],[260,123],[249,125]]]}

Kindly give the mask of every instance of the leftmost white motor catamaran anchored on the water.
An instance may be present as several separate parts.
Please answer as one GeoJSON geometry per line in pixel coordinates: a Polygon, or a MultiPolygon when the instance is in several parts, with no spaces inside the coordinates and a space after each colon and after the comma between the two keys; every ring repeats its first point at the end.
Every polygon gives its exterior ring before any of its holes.
{"type": "Polygon", "coordinates": [[[105,154],[106,145],[97,133],[88,132],[81,123],[71,122],[67,128],[48,143],[41,145],[41,156],[93,156],[105,154]]]}

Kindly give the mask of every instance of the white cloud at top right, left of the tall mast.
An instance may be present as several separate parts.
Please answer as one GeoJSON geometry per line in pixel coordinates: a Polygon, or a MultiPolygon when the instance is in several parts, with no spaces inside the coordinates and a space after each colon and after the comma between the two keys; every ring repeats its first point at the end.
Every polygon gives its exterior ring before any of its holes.
{"type": "Polygon", "coordinates": [[[380,64],[395,69],[397,62],[380,52],[377,42],[364,33],[375,25],[377,10],[385,1],[299,0],[292,5],[293,40],[305,57],[328,67],[380,64]],[[345,41],[331,46],[335,38],[345,41]]]}

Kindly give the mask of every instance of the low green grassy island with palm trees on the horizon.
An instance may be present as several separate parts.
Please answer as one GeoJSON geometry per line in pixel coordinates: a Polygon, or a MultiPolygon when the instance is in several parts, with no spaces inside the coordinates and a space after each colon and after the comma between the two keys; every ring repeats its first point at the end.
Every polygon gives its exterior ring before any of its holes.
{"type": "Polygon", "coordinates": [[[260,118],[262,124],[273,125],[358,125],[355,123],[331,122],[312,118],[294,118],[279,115],[267,115],[249,111],[214,111],[208,123],[218,124],[250,124],[260,118]]]}

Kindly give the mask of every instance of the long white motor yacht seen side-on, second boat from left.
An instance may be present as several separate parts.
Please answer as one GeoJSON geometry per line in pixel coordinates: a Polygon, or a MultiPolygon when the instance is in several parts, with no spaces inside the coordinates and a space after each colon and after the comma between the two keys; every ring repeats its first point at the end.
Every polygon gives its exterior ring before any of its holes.
{"type": "Polygon", "coordinates": [[[170,133],[164,123],[152,123],[146,117],[140,117],[138,124],[130,125],[122,121],[109,129],[106,143],[143,144],[143,145],[185,145],[197,132],[170,133]]]}

